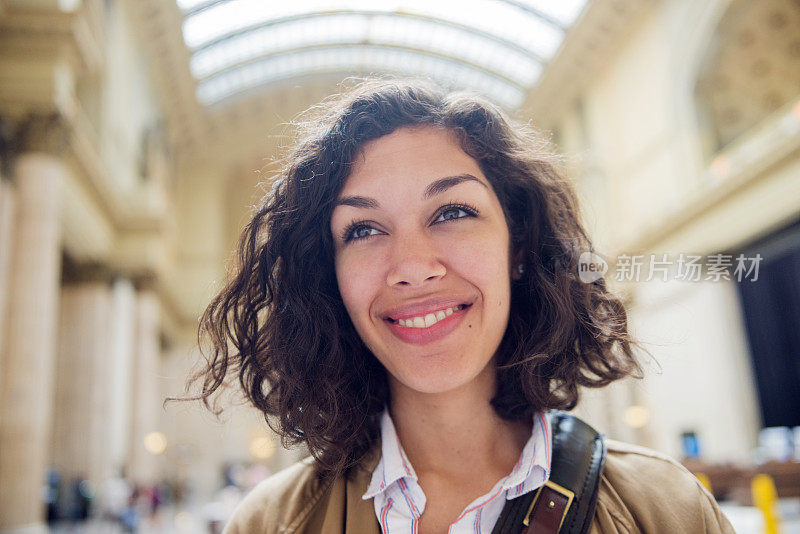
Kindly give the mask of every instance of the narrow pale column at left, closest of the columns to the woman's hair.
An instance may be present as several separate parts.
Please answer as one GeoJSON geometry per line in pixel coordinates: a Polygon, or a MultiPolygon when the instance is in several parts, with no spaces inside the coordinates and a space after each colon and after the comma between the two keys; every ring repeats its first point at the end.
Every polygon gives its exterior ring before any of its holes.
{"type": "Polygon", "coordinates": [[[139,484],[158,479],[158,461],[145,449],[144,438],[159,429],[162,399],[159,392],[161,341],[159,337],[159,302],[156,294],[139,292],[136,313],[136,342],[133,360],[133,396],[131,414],[131,450],[129,477],[139,484]]]}

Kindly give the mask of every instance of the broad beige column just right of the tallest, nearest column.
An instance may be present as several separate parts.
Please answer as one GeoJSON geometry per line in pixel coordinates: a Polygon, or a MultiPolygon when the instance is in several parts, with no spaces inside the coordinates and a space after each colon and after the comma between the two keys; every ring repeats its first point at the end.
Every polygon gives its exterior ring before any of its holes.
{"type": "Polygon", "coordinates": [[[61,291],[52,464],[64,480],[81,477],[98,491],[111,475],[110,312],[108,281],[68,283],[61,291]]]}

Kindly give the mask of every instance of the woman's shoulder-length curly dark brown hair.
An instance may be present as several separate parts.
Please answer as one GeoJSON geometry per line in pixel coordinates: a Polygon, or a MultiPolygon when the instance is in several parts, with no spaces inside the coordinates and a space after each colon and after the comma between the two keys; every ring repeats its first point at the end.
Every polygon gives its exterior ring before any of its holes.
{"type": "MultiPolygon", "coordinates": [[[[304,443],[320,476],[347,472],[379,436],[386,371],[362,342],[334,271],[330,218],[354,158],[401,127],[455,134],[494,188],[524,274],[496,354],[492,404],[508,420],[571,409],[579,387],[641,374],[622,302],[578,278],[592,249],[575,193],[530,128],[478,97],[420,80],[372,79],[312,108],[238,247],[234,276],[201,319],[210,350],[191,382],[209,399],[238,378],[285,445],[304,443]]],[[[190,382],[190,383],[191,383],[190,382]]]]}

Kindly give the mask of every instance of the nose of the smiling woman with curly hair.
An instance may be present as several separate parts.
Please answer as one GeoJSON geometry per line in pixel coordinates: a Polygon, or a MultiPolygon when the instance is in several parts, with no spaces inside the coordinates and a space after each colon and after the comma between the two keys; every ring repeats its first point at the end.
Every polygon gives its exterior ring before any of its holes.
{"type": "Polygon", "coordinates": [[[386,275],[390,287],[422,286],[444,276],[447,269],[427,236],[395,236],[390,254],[391,265],[386,275]]]}

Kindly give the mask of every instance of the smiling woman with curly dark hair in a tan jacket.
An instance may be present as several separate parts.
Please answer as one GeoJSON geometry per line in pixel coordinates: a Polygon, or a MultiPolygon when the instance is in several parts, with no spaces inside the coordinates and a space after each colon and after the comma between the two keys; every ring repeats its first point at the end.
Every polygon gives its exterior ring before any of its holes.
{"type": "MultiPolygon", "coordinates": [[[[202,320],[201,397],[237,376],[313,456],[227,532],[491,532],[550,476],[547,410],[640,371],[584,250],[569,183],[493,105],[381,80],[324,103],[202,320]]],[[[731,531],[655,453],[610,444],[599,486],[599,532],[731,531]]]]}

